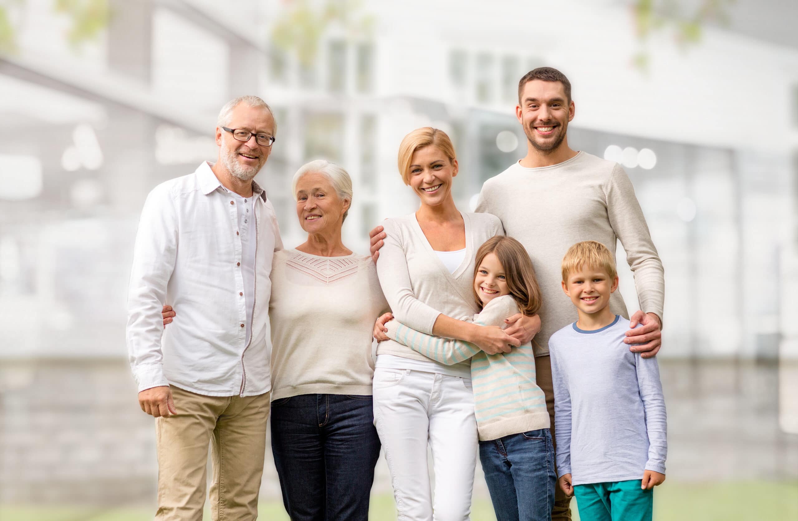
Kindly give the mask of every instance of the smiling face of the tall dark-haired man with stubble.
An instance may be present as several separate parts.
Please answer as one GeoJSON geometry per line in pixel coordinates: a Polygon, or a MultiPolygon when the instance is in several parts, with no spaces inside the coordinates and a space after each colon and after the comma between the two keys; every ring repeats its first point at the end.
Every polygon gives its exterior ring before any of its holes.
{"type": "Polygon", "coordinates": [[[519,104],[516,106],[516,117],[535,149],[553,152],[563,145],[568,122],[574,119],[575,108],[574,102],[567,99],[561,82],[527,81],[519,104]]]}

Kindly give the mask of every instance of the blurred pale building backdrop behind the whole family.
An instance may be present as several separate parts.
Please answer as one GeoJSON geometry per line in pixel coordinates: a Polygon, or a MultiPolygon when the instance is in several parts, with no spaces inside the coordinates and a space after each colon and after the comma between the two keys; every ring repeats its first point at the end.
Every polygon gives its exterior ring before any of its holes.
{"type": "MultiPolygon", "coordinates": [[[[224,102],[275,109],[259,182],[286,246],[303,240],[291,176],[323,157],[352,176],[344,239],[365,252],[417,204],[401,137],[449,132],[467,209],[525,154],[517,82],[540,65],[573,84],[571,147],[625,165],[665,266],[669,477],[795,483],[798,40],[745,26],[750,3],[680,48],[638,37],[638,2],[0,2],[0,505],[152,503],[154,430],[124,348],[132,243],[148,191],[215,160],[224,102]]],[[[636,309],[622,248],[618,266],[636,309]]],[[[263,492],[279,497],[269,464],[263,492]]]]}

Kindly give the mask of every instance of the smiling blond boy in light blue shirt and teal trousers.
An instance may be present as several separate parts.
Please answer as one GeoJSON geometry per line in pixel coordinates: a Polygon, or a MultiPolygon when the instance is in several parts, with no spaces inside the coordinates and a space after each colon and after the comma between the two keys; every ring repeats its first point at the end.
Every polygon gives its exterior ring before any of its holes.
{"type": "Polygon", "coordinates": [[[618,274],[610,251],[576,243],[563,259],[563,291],[579,320],[551,336],[559,486],[582,521],[652,518],[665,481],[666,413],[657,358],[623,342],[629,321],[610,311],[618,274]]]}

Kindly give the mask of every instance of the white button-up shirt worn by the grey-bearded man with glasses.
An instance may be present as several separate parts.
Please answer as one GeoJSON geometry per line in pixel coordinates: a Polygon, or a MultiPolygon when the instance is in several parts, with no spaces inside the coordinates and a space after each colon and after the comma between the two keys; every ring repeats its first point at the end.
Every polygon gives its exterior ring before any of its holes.
{"type": "Polygon", "coordinates": [[[271,389],[269,274],[282,240],[274,207],[257,184],[253,187],[251,286],[239,199],[224,189],[209,164],[148,195],[128,293],[128,354],[139,391],[171,384],[207,396],[255,396],[271,389]],[[164,330],[165,303],[177,316],[164,330]]]}

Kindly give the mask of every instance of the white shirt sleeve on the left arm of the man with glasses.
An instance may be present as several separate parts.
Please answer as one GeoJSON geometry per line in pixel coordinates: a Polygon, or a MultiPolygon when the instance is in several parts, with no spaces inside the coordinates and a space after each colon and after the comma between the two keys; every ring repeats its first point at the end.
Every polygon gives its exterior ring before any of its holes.
{"type": "Polygon", "coordinates": [[[178,220],[168,187],[150,192],[141,211],[128,287],[126,342],[139,391],[168,385],[163,370],[161,309],[175,268],[178,220]]]}

